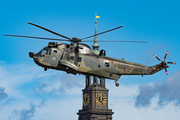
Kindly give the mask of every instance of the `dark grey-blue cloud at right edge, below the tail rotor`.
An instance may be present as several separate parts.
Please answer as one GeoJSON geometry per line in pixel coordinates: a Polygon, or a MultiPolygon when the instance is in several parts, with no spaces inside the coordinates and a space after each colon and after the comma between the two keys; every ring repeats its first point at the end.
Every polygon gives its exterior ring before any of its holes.
{"type": "Polygon", "coordinates": [[[157,109],[168,103],[180,106],[180,71],[176,71],[165,81],[139,85],[139,94],[135,98],[136,107],[149,107],[152,98],[158,98],[157,109]]]}

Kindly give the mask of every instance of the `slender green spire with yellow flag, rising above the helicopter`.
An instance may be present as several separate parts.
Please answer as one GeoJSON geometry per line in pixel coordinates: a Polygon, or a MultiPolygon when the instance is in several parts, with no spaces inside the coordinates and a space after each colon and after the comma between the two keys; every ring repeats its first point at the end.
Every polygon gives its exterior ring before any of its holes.
{"type": "Polygon", "coordinates": [[[94,44],[93,44],[93,52],[95,54],[99,54],[99,44],[98,44],[98,40],[97,40],[97,18],[100,18],[100,16],[97,16],[97,13],[95,13],[95,36],[94,36],[94,44]]]}

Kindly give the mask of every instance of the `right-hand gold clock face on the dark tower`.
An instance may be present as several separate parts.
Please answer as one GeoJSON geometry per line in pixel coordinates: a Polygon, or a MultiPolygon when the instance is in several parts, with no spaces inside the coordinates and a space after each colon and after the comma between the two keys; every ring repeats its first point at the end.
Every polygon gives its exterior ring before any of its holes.
{"type": "Polygon", "coordinates": [[[106,95],[103,94],[103,93],[98,93],[96,95],[96,103],[99,105],[99,106],[103,106],[105,105],[107,102],[107,98],[106,98],[106,95]]]}

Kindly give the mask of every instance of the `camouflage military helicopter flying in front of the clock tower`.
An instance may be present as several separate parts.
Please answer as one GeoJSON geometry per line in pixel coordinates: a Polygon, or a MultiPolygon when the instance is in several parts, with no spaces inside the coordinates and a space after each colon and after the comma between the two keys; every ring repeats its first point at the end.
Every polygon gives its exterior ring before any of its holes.
{"type": "MultiPolygon", "coordinates": [[[[86,41],[85,39],[91,38],[100,34],[104,34],[123,26],[119,26],[105,32],[101,32],[95,35],[91,35],[89,37],[85,37],[82,39],[73,37],[69,38],[62,34],[51,31],[42,26],[36,25],[34,23],[28,23],[35,27],[46,30],[50,33],[58,35],[65,39],[53,39],[53,38],[43,38],[43,37],[32,37],[32,36],[21,36],[21,35],[7,35],[4,36],[12,36],[12,37],[25,37],[25,38],[35,38],[35,39],[44,39],[44,40],[56,40],[56,41],[68,41],[67,43],[59,43],[59,42],[49,42],[48,46],[44,47],[38,53],[29,52],[29,57],[33,58],[34,62],[43,67],[45,71],[47,69],[55,69],[60,71],[65,71],[68,74],[83,74],[95,76],[98,78],[107,78],[115,80],[115,85],[118,87],[119,83],[117,83],[118,79],[122,75],[152,75],[157,73],[158,71],[165,69],[166,75],[168,75],[167,68],[169,67],[167,64],[176,64],[176,62],[165,62],[166,57],[169,51],[166,52],[164,56],[164,60],[161,60],[157,57],[157,55],[153,55],[157,58],[160,63],[154,66],[146,66],[142,64],[137,64],[129,61],[125,61],[123,59],[116,59],[112,57],[106,56],[106,51],[101,50],[99,54],[95,54],[91,48],[82,42],[92,42],[86,41]]],[[[136,42],[136,43],[146,43],[141,41],[99,41],[99,42],[136,42]]]]}

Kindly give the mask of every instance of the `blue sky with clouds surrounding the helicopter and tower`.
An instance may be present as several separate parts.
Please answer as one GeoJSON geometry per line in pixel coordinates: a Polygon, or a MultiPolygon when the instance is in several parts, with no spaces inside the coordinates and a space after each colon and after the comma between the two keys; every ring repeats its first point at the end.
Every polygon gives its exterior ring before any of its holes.
{"type": "Polygon", "coordinates": [[[160,63],[153,54],[163,59],[169,51],[166,61],[177,63],[169,65],[168,75],[162,70],[144,77],[121,76],[119,87],[106,79],[113,119],[179,120],[179,6],[178,0],[1,0],[0,120],[78,119],[85,76],[44,71],[29,58],[29,52],[40,51],[50,41],[4,34],[60,38],[27,24],[32,22],[70,38],[84,38],[94,34],[95,13],[100,16],[98,33],[124,26],[99,35],[99,41],[147,42],[99,42],[107,56],[152,66],[160,63]]]}

